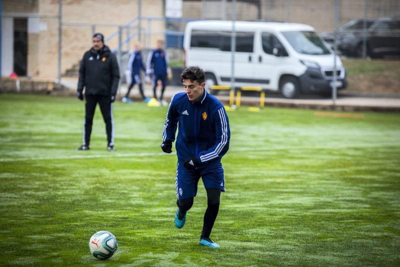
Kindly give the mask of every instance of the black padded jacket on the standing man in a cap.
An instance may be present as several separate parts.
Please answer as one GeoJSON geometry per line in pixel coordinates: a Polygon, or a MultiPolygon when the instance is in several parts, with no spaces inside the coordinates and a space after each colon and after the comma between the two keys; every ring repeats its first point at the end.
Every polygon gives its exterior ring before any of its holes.
{"type": "Polygon", "coordinates": [[[98,52],[87,50],[80,61],[78,92],[85,95],[115,95],[119,82],[119,67],[115,55],[104,45],[98,52]]]}

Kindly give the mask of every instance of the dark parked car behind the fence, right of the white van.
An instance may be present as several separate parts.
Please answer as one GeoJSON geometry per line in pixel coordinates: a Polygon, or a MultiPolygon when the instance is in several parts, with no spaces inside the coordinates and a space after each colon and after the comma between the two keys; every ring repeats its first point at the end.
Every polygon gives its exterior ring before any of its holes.
{"type": "MultiPolygon", "coordinates": [[[[366,55],[371,57],[400,55],[400,19],[376,18],[348,21],[337,30],[338,51],[348,56],[361,57],[363,36],[366,40],[366,55]]],[[[333,47],[334,32],[322,33],[321,37],[333,47]]]]}

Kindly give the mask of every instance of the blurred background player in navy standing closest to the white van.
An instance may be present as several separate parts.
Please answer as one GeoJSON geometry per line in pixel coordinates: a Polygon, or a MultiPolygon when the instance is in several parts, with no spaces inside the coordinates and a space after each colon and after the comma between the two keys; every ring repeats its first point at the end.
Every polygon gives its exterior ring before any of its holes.
{"type": "Polygon", "coordinates": [[[157,88],[157,81],[160,80],[162,83],[161,95],[159,101],[162,105],[166,106],[168,103],[162,98],[166,86],[167,74],[171,71],[168,67],[169,59],[165,50],[162,49],[164,45],[163,40],[157,41],[157,49],[154,49],[148,53],[147,57],[147,69],[146,74],[152,74],[153,78],[153,96],[157,99],[157,94],[155,89],[157,88]]]}

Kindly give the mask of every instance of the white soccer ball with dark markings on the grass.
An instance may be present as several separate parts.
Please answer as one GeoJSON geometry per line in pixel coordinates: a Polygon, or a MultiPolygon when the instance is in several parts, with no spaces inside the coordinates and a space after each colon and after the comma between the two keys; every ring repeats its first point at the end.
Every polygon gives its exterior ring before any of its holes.
{"type": "Polygon", "coordinates": [[[90,237],[90,253],[98,259],[110,258],[117,247],[115,236],[107,231],[98,231],[90,237]]]}

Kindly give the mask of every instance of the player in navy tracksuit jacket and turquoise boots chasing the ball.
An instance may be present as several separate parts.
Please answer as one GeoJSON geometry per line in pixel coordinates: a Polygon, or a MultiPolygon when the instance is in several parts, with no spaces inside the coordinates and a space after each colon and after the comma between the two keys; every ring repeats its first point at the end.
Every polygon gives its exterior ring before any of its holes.
{"type": "Polygon", "coordinates": [[[171,98],[162,132],[161,149],[172,152],[176,128],[176,204],[175,226],[183,227],[186,212],[193,205],[197,182],[202,178],[207,192],[207,209],[199,243],[219,247],[209,235],[219,209],[225,179],[221,157],[229,148],[229,121],[221,102],[204,89],[204,71],[198,66],[187,67],[181,74],[185,92],[171,98]]]}

